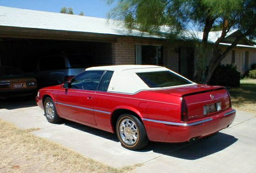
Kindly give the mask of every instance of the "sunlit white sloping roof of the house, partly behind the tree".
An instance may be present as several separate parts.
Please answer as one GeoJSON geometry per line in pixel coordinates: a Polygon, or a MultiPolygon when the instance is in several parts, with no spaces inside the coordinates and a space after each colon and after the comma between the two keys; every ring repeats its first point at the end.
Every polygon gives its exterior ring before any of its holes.
{"type": "MultiPolygon", "coordinates": [[[[104,18],[52,13],[3,6],[0,6],[0,26],[165,39],[165,37],[143,33],[136,29],[128,30],[124,26],[123,21],[120,20],[108,20],[104,18]]],[[[163,33],[168,33],[170,32],[170,27],[163,26],[161,31],[163,33]]],[[[236,31],[237,30],[230,31],[226,37],[236,31]]],[[[202,35],[203,32],[199,31],[185,31],[182,33],[181,39],[184,38],[189,40],[196,38],[198,40],[202,40],[202,35]]],[[[220,35],[221,31],[210,32],[208,42],[215,43],[220,35]]],[[[254,47],[246,45],[237,46],[254,47]]]]}

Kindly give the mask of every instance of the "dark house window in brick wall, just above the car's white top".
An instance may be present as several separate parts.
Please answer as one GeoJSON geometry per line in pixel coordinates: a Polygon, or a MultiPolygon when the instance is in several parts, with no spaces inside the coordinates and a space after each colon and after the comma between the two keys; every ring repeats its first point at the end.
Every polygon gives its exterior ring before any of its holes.
{"type": "Polygon", "coordinates": [[[163,66],[163,47],[135,45],[135,62],[141,65],[163,66]]]}

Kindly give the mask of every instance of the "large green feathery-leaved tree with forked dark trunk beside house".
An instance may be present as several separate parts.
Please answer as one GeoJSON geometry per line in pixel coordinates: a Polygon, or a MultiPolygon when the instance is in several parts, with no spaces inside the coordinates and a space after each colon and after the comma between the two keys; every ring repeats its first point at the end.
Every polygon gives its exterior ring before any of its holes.
{"type": "Polygon", "coordinates": [[[181,39],[184,33],[191,31],[190,37],[199,48],[194,80],[202,83],[209,82],[216,67],[240,40],[256,36],[255,0],[118,0],[109,17],[124,20],[129,29],[167,34],[168,38],[181,39]],[[168,28],[168,32],[163,33],[163,28],[168,28]],[[212,59],[206,64],[209,32],[218,28],[221,36],[213,45],[212,59]],[[220,43],[232,29],[240,29],[241,33],[220,51],[220,43]],[[203,32],[202,40],[195,30],[203,32]]]}

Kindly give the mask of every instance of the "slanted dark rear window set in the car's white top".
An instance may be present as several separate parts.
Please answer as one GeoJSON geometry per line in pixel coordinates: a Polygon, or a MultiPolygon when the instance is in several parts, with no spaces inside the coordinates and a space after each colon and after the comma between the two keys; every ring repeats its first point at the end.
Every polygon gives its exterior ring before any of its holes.
{"type": "Polygon", "coordinates": [[[143,73],[136,73],[136,74],[150,88],[174,87],[179,85],[192,84],[192,82],[190,82],[189,80],[186,80],[170,71],[143,72],[143,73]]]}

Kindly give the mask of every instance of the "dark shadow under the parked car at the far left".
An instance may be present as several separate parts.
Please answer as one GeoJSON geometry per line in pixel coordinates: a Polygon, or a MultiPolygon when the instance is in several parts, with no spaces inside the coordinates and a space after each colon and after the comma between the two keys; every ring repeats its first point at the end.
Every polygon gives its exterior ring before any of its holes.
{"type": "Polygon", "coordinates": [[[8,99],[0,99],[0,109],[19,109],[24,107],[37,106],[35,102],[35,95],[23,97],[11,97],[8,99]]]}

